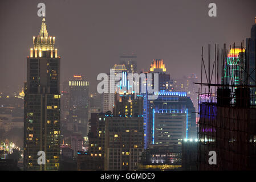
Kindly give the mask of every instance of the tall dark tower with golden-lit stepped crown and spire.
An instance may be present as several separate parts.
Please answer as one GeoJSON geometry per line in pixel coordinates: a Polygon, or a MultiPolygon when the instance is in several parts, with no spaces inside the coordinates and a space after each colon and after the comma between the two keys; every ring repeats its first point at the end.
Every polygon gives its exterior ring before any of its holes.
{"type": "Polygon", "coordinates": [[[43,18],[27,57],[24,115],[24,169],[58,170],[60,156],[60,57],[55,37],[48,36],[43,18]],[[38,151],[46,164],[38,164],[38,151]]]}

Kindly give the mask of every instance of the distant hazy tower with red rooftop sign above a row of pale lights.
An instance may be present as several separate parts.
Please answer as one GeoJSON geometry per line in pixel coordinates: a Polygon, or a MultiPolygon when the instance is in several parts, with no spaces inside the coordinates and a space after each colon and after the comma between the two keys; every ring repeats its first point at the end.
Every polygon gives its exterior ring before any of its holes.
{"type": "Polygon", "coordinates": [[[89,105],[89,82],[82,75],[74,75],[68,82],[70,86],[70,122],[77,123],[78,132],[87,135],[89,105]]]}

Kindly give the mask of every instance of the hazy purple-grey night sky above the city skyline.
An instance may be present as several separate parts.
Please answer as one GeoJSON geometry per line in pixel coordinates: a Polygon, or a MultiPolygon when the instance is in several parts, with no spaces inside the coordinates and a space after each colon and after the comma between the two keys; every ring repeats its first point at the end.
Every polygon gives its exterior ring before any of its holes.
{"type": "Polygon", "coordinates": [[[241,43],[250,37],[255,0],[91,0],[0,1],[0,91],[21,88],[32,36],[46,5],[48,35],[55,36],[61,81],[84,74],[92,90],[96,76],[119,63],[123,51],[136,51],[138,71],[164,59],[171,77],[200,76],[201,47],[241,43]],[[217,4],[217,17],[208,5],[217,4]]]}

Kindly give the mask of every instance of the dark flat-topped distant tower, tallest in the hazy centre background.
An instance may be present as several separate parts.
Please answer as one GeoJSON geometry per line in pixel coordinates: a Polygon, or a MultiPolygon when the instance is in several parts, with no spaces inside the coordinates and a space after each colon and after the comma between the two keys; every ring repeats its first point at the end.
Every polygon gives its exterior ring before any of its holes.
{"type": "Polygon", "coordinates": [[[128,73],[137,73],[137,56],[135,53],[123,53],[119,56],[119,60],[120,64],[125,65],[128,73]]]}

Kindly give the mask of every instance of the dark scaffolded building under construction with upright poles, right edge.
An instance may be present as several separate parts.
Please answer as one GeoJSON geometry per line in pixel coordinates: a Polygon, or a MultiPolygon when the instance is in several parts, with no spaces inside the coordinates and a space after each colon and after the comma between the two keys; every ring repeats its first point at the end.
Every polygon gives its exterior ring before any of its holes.
{"type": "Polygon", "coordinates": [[[221,51],[218,45],[214,48],[211,55],[209,44],[208,70],[202,48],[201,82],[195,83],[200,85],[197,169],[255,170],[256,78],[250,67],[255,72],[256,64],[249,64],[243,42],[229,50],[225,44],[221,51]],[[210,151],[216,151],[217,164],[209,164],[210,151]]]}

